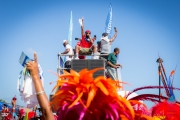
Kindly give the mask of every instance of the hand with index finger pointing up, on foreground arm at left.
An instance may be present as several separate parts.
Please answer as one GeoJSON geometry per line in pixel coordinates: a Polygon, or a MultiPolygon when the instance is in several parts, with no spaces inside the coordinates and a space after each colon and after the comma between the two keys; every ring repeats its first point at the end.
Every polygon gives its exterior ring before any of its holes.
{"type": "Polygon", "coordinates": [[[30,71],[32,78],[39,78],[38,61],[36,53],[34,53],[34,61],[28,62],[26,69],[30,71]]]}

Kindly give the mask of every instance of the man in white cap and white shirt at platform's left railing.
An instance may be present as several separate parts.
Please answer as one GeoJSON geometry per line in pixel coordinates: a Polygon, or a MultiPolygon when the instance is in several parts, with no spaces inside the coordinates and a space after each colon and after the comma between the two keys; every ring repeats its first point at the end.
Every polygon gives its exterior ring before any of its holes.
{"type": "MultiPolygon", "coordinates": [[[[63,46],[65,47],[65,51],[62,52],[61,54],[70,55],[70,56],[66,56],[65,68],[71,68],[72,55],[74,54],[73,49],[68,44],[67,40],[63,40],[63,46]]],[[[67,69],[66,71],[70,72],[70,69],[67,69]]]]}

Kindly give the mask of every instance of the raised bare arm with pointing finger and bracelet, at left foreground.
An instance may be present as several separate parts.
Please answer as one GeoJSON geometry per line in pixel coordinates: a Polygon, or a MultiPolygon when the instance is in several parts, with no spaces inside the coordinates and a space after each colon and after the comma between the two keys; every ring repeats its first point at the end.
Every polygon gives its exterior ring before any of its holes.
{"type": "MultiPolygon", "coordinates": [[[[42,83],[39,77],[36,53],[34,53],[34,62],[31,61],[27,63],[27,70],[30,70],[36,93],[44,91],[44,88],[42,86],[42,83]]],[[[37,99],[42,109],[44,119],[53,120],[54,115],[51,111],[51,107],[49,105],[49,101],[46,94],[42,93],[42,94],[37,95],[37,99]]]]}

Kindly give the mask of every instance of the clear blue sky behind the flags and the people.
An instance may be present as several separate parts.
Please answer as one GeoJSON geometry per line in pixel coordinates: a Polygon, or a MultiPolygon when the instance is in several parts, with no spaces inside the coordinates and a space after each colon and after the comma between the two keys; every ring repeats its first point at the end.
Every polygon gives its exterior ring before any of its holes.
{"type": "MultiPolygon", "coordinates": [[[[119,31],[112,48],[121,49],[122,79],[131,84],[126,90],[158,85],[158,53],[164,60],[167,74],[180,57],[180,2],[177,0],[1,0],[0,1],[0,98],[10,102],[18,96],[17,79],[23,69],[18,63],[22,51],[38,61],[44,71],[45,91],[49,95],[51,81],[57,77],[57,54],[64,50],[62,41],[68,37],[70,11],[73,12],[73,40],[80,37],[78,19],[84,16],[85,29],[98,40],[104,31],[109,4],[113,7],[113,27],[119,31]]],[[[114,34],[114,31],[113,31],[114,34]]],[[[73,41],[73,47],[76,41],[73,41]]],[[[175,73],[175,87],[180,87],[180,66],[175,73]]],[[[156,93],[144,90],[141,93],[156,93]]],[[[180,91],[175,91],[180,100],[180,91]]],[[[150,105],[150,103],[147,103],[150,105]]]]}

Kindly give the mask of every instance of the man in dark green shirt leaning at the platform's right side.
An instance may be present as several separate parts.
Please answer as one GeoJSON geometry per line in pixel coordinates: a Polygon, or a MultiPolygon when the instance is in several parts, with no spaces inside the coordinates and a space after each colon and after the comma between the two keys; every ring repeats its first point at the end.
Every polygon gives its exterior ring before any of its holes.
{"type": "Polygon", "coordinates": [[[111,79],[118,80],[117,68],[121,67],[121,64],[117,64],[117,55],[120,53],[119,48],[115,48],[113,53],[110,53],[107,58],[107,72],[109,73],[111,79]]]}

